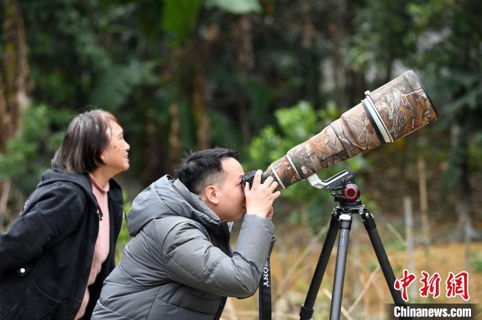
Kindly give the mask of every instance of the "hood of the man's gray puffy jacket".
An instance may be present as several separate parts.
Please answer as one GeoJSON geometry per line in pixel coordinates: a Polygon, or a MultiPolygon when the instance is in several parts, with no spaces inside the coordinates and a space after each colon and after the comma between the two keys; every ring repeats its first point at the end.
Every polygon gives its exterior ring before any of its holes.
{"type": "Polygon", "coordinates": [[[167,216],[190,218],[214,233],[220,232],[219,217],[200,196],[189,192],[179,179],[174,180],[169,175],[158,179],[136,196],[127,215],[127,228],[131,236],[136,236],[149,221],[167,216]]]}

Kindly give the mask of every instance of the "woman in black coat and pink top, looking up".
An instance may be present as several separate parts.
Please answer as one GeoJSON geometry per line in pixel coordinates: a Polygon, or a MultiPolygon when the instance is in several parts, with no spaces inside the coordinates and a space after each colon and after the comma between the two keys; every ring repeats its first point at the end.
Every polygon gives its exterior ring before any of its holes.
{"type": "Polygon", "coordinates": [[[77,115],[19,218],[0,233],[0,319],[90,319],[114,268],[129,168],[114,115],[77,115]]]}

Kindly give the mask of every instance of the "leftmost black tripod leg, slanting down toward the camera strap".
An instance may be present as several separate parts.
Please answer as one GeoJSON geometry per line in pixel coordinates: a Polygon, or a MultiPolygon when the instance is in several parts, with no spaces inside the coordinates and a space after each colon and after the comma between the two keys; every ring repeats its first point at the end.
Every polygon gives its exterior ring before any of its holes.
{"type": "Polygon", "coordinates": [[[313,279],[311,279],[310,288],[306,294],[306,299],[300,310],[300,320],[308,320],[313,316],[313,306],[315,304],[316,295],[319,290],[319,286],[322,284],[323,275],[330,258],[331,251],[333,251],[333,245],[335,244],[335,238],[339,229],[339,221],[337,216],[331,216],[330,227],[326,233],[326,238],[323,244],[322,252],[319,254],[318,263],[316,264],[315,273],[313,273],[313,279]]]}

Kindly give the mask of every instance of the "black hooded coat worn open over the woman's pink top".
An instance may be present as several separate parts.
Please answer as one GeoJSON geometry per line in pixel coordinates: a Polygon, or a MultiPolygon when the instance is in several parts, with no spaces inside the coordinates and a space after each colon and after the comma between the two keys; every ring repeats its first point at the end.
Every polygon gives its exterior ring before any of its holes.
{"type": "MultiPolygon", "coordinates": [[[[123,219],[121,187],[109,181],[110,252],[89,287],[89,319],[114,268],[123,219]]],[[[0,233],[0,319],[74,319],[87,286],[100,209],[88,174],[47,170],[20,217],[0,233]]]]}

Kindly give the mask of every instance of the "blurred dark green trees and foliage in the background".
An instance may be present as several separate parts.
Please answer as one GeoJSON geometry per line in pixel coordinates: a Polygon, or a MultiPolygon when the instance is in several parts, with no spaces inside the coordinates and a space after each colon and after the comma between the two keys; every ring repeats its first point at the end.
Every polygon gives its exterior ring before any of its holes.
{"type": "MultiPolygon", "coordinates": [[[[366,201],[401,214],[423,161],[430,216],[477,238],[481,14],[474,0],[3,0],[2,223],[66,124],[94,106],[125,128],[132,168],[120,179],[132,200],[186,150],[235,148],[246,171],[264,169],[365,90],[414,69],[439,121],[320,175],[357,170],[366,201]]],[[[319,227],[332,204],[313,194],[306,183],[286,190],[278,216],[319,227]]]]}

